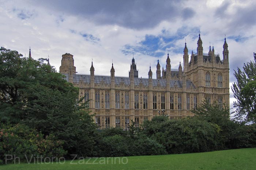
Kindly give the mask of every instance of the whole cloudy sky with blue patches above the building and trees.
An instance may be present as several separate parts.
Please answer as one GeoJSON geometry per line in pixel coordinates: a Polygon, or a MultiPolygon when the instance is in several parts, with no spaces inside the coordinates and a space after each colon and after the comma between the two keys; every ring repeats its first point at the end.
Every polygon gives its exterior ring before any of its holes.
{"type": "MultiPolygon", "coordinates": [[[[230,86],[233,70],[256,52],[255,0],[0,0],[0,46],[34,59],[50,58],[59,71],[61,55],[74,55],[76,71],[128,76],[134,54],[139,77],[165,66],[169,51],[178,68],[185,40],[191,54],[200,29],[204,52],[221,54],[226,34],[230,86]]],[[[153,74],[156,77],[155,74],[153,74]]],[[[153,78],[154,78],[153,77],[153,78]]],[[[233,102],[230,90],[230,104],[233,102]]]]}

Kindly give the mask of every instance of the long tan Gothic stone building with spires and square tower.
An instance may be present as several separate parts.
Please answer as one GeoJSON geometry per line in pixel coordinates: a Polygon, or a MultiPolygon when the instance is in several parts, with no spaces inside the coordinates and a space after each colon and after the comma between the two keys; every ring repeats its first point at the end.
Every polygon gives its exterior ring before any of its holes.
{"type": "Polygon", "coordinates": [[[152,78],[151,67],[148,78],[139,78],[135,60],[132,59],[129,77],[115,76],[112,63],[110,76],[94,74],[93,62],[90,75],[77,74],[71,54],[62,55],[60,73],[65,79],[79,87],[79,98],[89,101],[91,114],[99,129],[121,127],[128,129],[131,120],[139,126],[145,119],[152,119],[162,113],[170,118],[193,116],[191,110],[203,100],[222,106],[229,106],[229,51],[226,38],[223,45],[223,60],[214,53],[203,52],[202,40],[197,41],[197,52],[189,61],[185,43],[183,63],[178,69],[171,69],[169,54],[166,68],[157,63],[157,78],[152,78]],[[163,112],[164,111],[164,112],[163,112]]]}

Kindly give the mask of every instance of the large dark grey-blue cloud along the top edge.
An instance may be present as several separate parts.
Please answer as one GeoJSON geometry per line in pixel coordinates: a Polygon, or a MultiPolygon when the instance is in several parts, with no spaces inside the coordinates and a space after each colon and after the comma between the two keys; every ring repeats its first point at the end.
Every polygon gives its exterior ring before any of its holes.
{"type": "Polygon", "coordinates": [[[152,28],[163,20],[184,19],[195,14],[191,8],[182,9],[180,1],[169,0],[54,0],[34,1],[54,11],[80,15],[95,23],[117,24],[127,28],[152,28]]]}

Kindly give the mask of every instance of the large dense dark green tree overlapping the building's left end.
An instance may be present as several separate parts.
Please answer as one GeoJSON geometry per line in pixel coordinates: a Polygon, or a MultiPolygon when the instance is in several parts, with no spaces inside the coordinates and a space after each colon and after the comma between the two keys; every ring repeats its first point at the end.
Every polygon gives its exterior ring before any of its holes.
{"type": "Polygon", "coordinates": [[[68,154],[91,155],[96,125],[79,89],[45,64],[0,48],[0,121],[26,124],[64,141],[68,154]]]}

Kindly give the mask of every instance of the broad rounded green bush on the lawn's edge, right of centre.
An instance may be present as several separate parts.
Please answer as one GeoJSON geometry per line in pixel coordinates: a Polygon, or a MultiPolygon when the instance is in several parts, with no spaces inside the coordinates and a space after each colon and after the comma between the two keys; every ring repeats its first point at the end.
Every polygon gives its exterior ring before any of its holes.
{"type": "Polygon", "coordinates": [[[217,149],[219,126],[195,118],[150,121],[144,133],[165,146],[168,153],[192,153],[217,149]]]}

